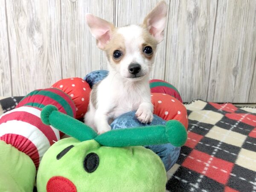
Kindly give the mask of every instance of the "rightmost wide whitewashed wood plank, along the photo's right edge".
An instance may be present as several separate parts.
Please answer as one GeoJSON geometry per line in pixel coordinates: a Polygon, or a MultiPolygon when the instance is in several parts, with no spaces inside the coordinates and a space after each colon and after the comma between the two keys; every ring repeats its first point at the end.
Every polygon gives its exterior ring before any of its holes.
{"type": "MultiPolygon", "coordinates": [[[[252,78],[253,82],[256,78],[253,77],[255,0],[219,1],[213,47],[207,99],[213,102],[248,102],[252,78]]],[[[250,101],[256,102],[255,97],[250,101]]]]}

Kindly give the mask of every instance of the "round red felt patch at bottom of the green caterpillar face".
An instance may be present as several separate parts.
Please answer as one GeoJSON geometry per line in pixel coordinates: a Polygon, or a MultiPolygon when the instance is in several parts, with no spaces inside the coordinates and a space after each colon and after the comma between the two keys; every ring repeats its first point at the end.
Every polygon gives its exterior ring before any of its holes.
{"type": "Polygon", "coordinates": [[[61,176],[50,178],[47,182],[46,189],[47,192],[77,192],[74,183],[61,176]]]}

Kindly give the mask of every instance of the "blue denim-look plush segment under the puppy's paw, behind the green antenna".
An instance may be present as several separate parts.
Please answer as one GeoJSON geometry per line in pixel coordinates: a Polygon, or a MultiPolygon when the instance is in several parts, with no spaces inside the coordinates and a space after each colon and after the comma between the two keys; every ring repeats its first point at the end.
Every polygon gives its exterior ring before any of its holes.
{"type": "MultiPolygon", "coordinates": [[[[150,124],[141,123],[135,116],[135,111],[131,111],[117,117],[112,123],[112,129],[120,128],[132,128],[132,127],[144,127],[149,125],[165,125],[166,121],[157,115],[154,115],[154,119],[150,124]]],[[[145,148],[149,148],[154,151],[163,161],[166,171],[172,168],[176,163],[180,155],[180,147],[175,147],[170,143],[162,145],[145,145],[145,148]]]]}

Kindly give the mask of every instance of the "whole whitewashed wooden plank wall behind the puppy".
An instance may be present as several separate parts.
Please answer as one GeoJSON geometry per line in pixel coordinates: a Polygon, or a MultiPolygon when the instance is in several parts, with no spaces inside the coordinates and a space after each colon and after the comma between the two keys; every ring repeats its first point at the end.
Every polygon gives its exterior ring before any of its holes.
{"type": "MultiPolygon", "coordinates": [[[[0,96],[25,95],[107,69],[85,23],[140,24],[159,0],[0,0],[0,96]]],[[[256,103],[256,0],[166,0],[165,40],[152,78],[184,102],[256,103]]]]}

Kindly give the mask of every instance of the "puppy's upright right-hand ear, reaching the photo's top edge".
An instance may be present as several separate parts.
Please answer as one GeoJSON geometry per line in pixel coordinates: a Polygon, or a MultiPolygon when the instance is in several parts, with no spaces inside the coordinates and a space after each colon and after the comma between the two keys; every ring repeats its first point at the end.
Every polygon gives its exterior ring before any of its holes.
{"type": "Polygon", "coordinates": [[[146,27],[158,43],[163,41],[163,30],[166,26],[167,4],[160,1],[157,6],[145,17],[143,26],[146,27]]]}

